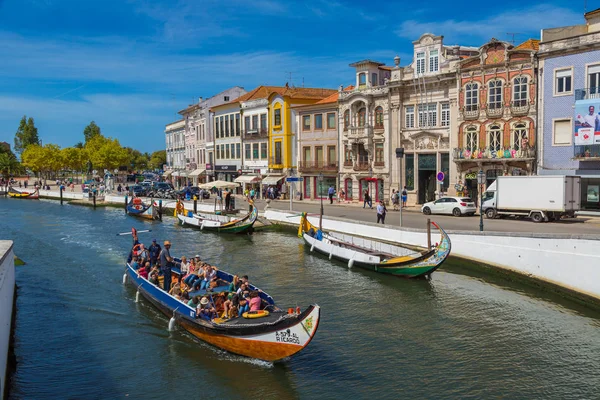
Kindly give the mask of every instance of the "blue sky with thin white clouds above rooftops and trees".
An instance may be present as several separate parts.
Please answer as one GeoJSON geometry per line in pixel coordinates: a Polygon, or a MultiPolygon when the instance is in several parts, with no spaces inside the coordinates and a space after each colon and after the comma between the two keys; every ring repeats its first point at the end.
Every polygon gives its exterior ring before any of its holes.
{"type": "Polygon", "coordinates": [[[584,22],[584,0],[474,3],[0,0],[0,141],[27,115],[44,144],[83,141],[94,120],[153,152],[177,111],[231,86],[338,88],[354,61],[410,64],[426,32],[479,47],[584,22]]]}

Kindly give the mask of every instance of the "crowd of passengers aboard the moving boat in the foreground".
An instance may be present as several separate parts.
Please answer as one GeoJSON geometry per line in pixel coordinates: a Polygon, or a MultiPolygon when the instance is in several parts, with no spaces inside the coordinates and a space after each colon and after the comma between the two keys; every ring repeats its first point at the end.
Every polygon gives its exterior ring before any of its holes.
{"type": "Polygon", "coordinates": [[[134,237],[130,265],[139,276],[194,308],[197,318],[209,321],[215,318],[227,320],[248,311],[261,310],[259,290],[251,289],[247,275],[241,278],[235,275],[231,283],[220,280],[217,277],[217,268],[203,262],[199,255],[189,260],[181,257],[181,262],[176,262],[170,258],[170,242],[165,241],[164,245],[165,248],[161,249],[155,239],[152,245],[146,248],[134,237]],[[163,264],[169,266],[163,268],[163,264]],[[181,273],[176,275],[176,281],[171,283],[171,267],[174,265],[179,267],[181,273]],[[228,285],[227,290],[213,292],[214,288],[224,285],[228,285]],[[198,291],[203,294],[196,295],[195,292],[198,291]]]}

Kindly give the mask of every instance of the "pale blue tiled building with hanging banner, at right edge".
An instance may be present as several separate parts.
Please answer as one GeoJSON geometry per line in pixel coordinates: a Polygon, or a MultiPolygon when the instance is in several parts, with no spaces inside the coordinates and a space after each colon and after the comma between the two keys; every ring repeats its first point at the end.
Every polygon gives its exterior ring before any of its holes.
{"type": "Polygon", "coordinates": [[[581,176],[582,208],[600,211],[600,9],[542,30],[538,60],[538,174],[581,176]]]}

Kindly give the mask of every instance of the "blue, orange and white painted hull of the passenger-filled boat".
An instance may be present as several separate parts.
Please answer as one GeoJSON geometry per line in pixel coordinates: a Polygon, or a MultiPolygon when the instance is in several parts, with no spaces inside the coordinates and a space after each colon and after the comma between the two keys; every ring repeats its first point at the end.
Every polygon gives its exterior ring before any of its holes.
{"type": "MultiPolygon", "coordinates": [[[[138,276],[129,265],[126,275],[127,281],[135,286],[144,298],[165,315],[174,316],[176,323],[194,337],[246,357],[270,362],[291,357],[308,346],[320,321],[320,307],[315,304],[300,314],[280,313],[281,316],[274,323],[261,323],[257,319],[252,320],[256,323],[249,325],[215,324],[196,319],[196,311],[193,308],[138,276]]],[[[219,277],[222,276],[223,272],[219,271],[219,277]]],[[[266,294],[261,294],[261,297],[271,299],[266,294]]]]}

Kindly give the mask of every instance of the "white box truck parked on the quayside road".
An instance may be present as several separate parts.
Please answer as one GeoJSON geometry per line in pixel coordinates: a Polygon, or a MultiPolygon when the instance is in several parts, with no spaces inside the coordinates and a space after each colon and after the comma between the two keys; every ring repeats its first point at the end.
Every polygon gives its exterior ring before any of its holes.
{"type": "Polygon", "coordinates": [[[483,194],[487,218],[529,217],[533,222],[575,216],[581,206],[579,176],[499,176],[483,194]]]}

